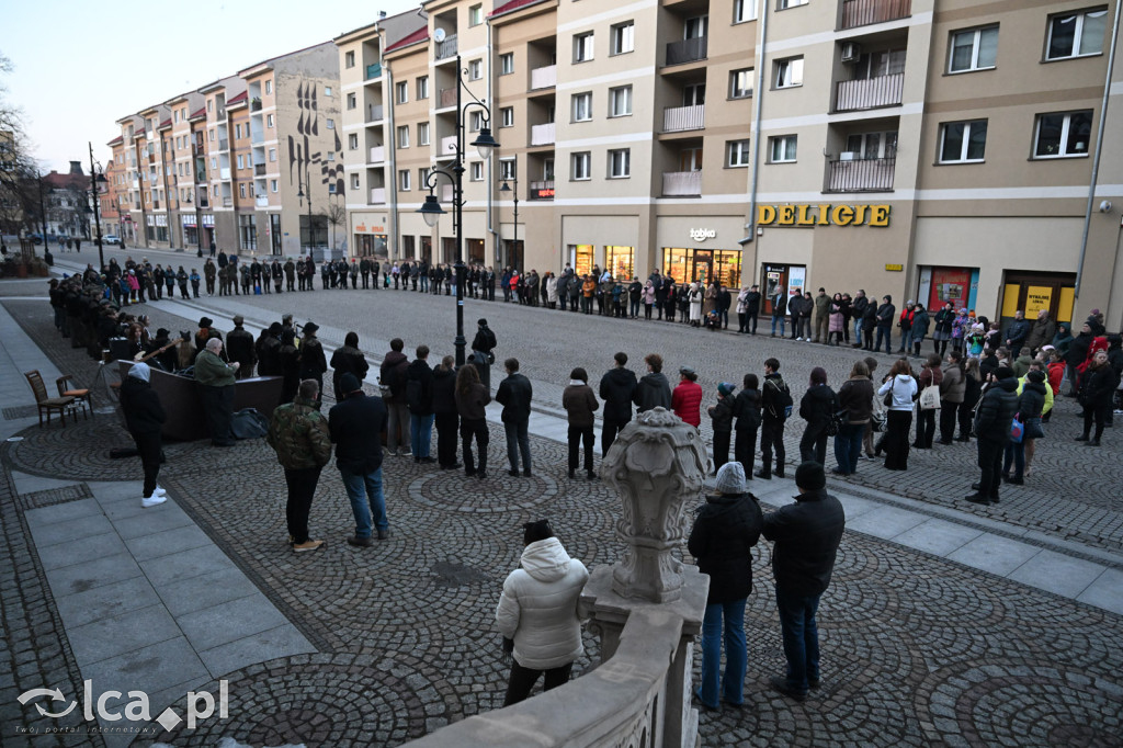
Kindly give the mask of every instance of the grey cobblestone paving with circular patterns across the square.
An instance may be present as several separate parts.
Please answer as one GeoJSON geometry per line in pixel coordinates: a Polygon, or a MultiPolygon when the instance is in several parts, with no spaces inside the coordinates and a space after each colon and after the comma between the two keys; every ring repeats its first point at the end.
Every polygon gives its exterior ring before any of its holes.
{"type": "MultiPolygon", "coordinates": [[[[405,338],[410,347],[428,343],[437,356],[451,353],[450,300],[392,291],[366,295],[317,291],[295,298],[244,301],[239,297],[207,300],[207,308],[221,314],[235,309],[234,304],[241,311],[248,302],[265,310],[258,314],[263,320],[292,311],[335,329],[356,329],[364,349],[380,355],[394,335],[405,338]],[[433,313],[441,318],[435,320],[433,313]]],[[[60,368],[92,378],[94,365],[54,335],[44,302],[6,304],[60,368]]],[[[158,311],[159,303],[149,309],[156,310],[154,323],[162,325],[156,314],[166,312],[158,311]]],[[[661,352],[669,370],[690,363],[702,375],[707,393],[720,380],[738,381],[736,372],[742,368],[759,372],[768,355],[785,362],[784,371],[793,383],[805,381],[813,365],[828,366],[831,381],[837,382],[853,358],[849,352],[811,344],[743,340],[666,323],[590,319],[468,301],[469,326],[478,316],[486,316],[496,330],[500,358],[518,356],[535,381],[536,393],[554,402],[572,366],[585,365],[595,376],[619,347],[633,359],[649,350],[661,352]],[[527,335],[528,330],[533,331],[527,335]]],[[[1039,459],[1056,449],[1056,465],[1070,465],[1069,475],[1092,475],[1093,469],[1097,476],[1113,475],[1111,471],[1119,469],[1117,446],[1097,453],[1103,462],[1094,465],[1085,462],[1094,450],[1067,449],[1060,436],[1052,438],[1053,431],[1075,428],[1075,420],[1065,412],[1058,414],[1039,459]]],[[[798,430],[788,429],[789,450],[795,448],[798,430]]],[[[21,436],[22,441],[0,447],[6,476],[19,469],[76,481],[140,478],[138,464],[111,462],[106,456],[107,447],[128,443],[112,419],[99,417],[66,429],[31,428],[21,436]]],[[[499,706],[505,669],[492,618],[502,581],[518,562],[519,526],[528,519],[553,518],[570,554],[590,566],[613,563],[621,548],[611,530],[618,500],[600,482],[568,481],[563,445],[531,440],[533,478],[506,476],[502,430],[495,426],[491,428],[492,478],[486,483],[387,458],[386,500],[393,535],[369,549],[343,541],[353,520],[338,474],[329,468],[312,508],[313,533],[328,545],[317,554],[299,556],[289,553],[284,541],[283,481],[264,441],[241,443],[227,450],[210,449],[204,443],[168,446],[162,483],[319,653],[230,674],[229,720],[162,737],[176,745],[207,746],[223,736],[255,745],[398,745],[499,706]]],[[[914,457],[905,477],[915,486],[916,498],[951,505],[965,491],[949,492],[970,482],[973,463],[967,448],[941,449],[914,457]]],[[[1046,463],[1038,465],[1044,468],[1046,463]]],[[[861,469],[864,480],[884,473],[873,463],[861,469]]],[[[1010,490],[1004,494],[1003,511],[1011,516],[1003,519],[1043,529],[1033,510],[1062,502],[1057,498],[1059,482],[1038,482],[1046,473],[1039,469],[1023,493],[1010,490]],[[1020,511],[1005,504],[1015,504],[1020,511]]],[[[888,478],[870,484],[914,495],[909,485],[888,478]]],[[[1081,486],[1080,496],[1066,500],[1072,517],[1059,523],[1078,519],[1088,539],[1052,532],[1095,547],[1119,547],[1117,524],[1114,535],[1111,529],[1111,522],[1117,521],[1117,505],[1113,509],[1115,496],[1107,495],[1113,484],[1119,485],[1117,476],[1114,483],[1110,477],[1101,481],[1102,489],[1081,486]],[[1093,509],[1104,518],[1092,517],[1093,509]],[[1096,536],[1098,541],[1092,538],[1093,530],[1102,533],[1096,536]]],[[[852,492],[855,486],[846,489],[852,492]]],[[[9,496],[3,519],[12,549],[17,548],[11,545],[12,536],[26,537],[26,531],[19,531],[20,505],[10,478],[8,491],[0,499],[9,496]]],[[[782,671],[783,651],[766,545],[757,555],[757,585],[746,620],[747,705],[704,713],[704,745],[1123,745],[1121,617],[855,532],[843,539],[832,587],[820,609],[823,687],[803,704],[775,696],[767,690],[767,677],[782,671]]],[[[34,559],[34,548],[19,553],[16,563],[22,562],[26,571],[16,584],[25,600],[42,602],[42,615],[51,618],[49,594],[24,587],[42,578],[34,559]]],[[[20,627],[35,636],[35,627],[40,626],[34,619],[9,621],[7,577],[2,584],[7,637],[0,667],[13,662],[13,654],[28,651],[17,641],[20,627]]],[[[51,644],[49,638],[43,645],[35,641],[30,651],[42,659],[40,646],[52,651],[51,644]]],[[[596,657],[595,641],[586,637],[586,646],[590,651],[578,662],[578,673],[596,657]]],[[[66,649],[64,637],[60,649],[66,649]]],[[[27,672],[31,669],[28,666],[27,672]]],[[[76,671],[65,672],[74,684],[76,671]]],[[[0,671],[0,677],[7,678],[6,673],[0,671]]],[[[0,688],[8,688],[4,704],[11,703],[7,695],[12,685],[0,679],[0,688]]],[[[20,682],[18,687],[25,686],[20,682]]],[[[216,690],[217,684],[209,687],[216,690]]]]}

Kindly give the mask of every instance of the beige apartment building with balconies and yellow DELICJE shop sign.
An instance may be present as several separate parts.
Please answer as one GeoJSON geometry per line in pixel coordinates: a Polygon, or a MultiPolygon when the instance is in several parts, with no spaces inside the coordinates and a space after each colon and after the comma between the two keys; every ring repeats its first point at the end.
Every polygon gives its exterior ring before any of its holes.
{"type": "Polygon", "coordinates": [[[1117,328],[1119,4],[430,0],[336,39],[350,243],[456,256],[447,180],[449,215],[416,211],[451,159],[459,57],[500,143],[487,162],[466,148],[466,261],[992,318],[1098,308],[1117,328]]]}

